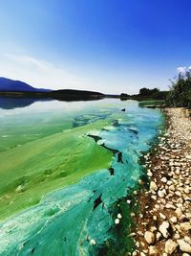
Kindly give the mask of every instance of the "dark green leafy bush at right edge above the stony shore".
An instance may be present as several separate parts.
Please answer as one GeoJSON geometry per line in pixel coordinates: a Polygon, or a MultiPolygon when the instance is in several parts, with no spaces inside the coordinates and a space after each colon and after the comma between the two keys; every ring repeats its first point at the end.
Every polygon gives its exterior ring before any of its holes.
{"type": "Polygon", "coordinates": [[[178,78],[172,81],[166,103],[170,106],[191,108],[191,71],[180,73],[178,78]]]}

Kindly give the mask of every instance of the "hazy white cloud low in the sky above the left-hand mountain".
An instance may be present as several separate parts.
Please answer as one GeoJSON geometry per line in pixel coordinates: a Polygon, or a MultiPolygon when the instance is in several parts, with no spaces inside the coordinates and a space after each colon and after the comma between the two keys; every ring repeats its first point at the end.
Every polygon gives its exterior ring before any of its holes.
{"type": "Polygon", "coordinates": [[[35,87],[52,89],[88,89],[90,82],[53,63],[29,56],[4,54],[0,61],[0,77],[26,81],[35,87]]]}

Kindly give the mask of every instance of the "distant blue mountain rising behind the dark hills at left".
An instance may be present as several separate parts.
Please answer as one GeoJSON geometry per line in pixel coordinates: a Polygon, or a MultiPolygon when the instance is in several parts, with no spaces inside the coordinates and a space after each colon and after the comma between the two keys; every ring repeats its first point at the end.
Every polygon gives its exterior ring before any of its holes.
{"type": "Polygon", "coordinates": [[[2,92],[49,92],[48,89],[38,89],[23,81],[14,81],[0,78],[0,91],[2,92]]]}

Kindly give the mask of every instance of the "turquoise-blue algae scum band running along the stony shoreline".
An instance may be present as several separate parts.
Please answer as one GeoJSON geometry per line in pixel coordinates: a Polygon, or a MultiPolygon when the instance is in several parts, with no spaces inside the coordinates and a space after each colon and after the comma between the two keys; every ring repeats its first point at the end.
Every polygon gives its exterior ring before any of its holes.
{"type": "MultiPolygon", "coordinates": [[[[105,241],[115,239],[110,232],[114,225],[110,210],[137,184],[141,173],[140,151],[148,151],[162,120],[159,111],[139,108],[137,103],[115,102],[103,108],[116,115],[98,121],[100,126],[96,127],[95,122],[77,129],[81,130],[80,136],[99,147],[98,151],[109,153],[114,174],[111,175],[108,167],[97,168],[92,175],[87,171],[85,177],[82,175],[78,182],[74,181],[75,184],[50,191],[40,203],[25,211],[20,209],[14,217],[1,221],[1,255],[96,255],[105,241]],[[119,113],[121,106],[126,107],[127,112],[119,113]],[[95,142],[87,137],[89,133],[100,139],[95,142]],[[111,151],[115,153],[113,158],[111,151]],[[95,245],[91,244],[91,239],[96,241],[95,245]]],[[[100,113],[101,105],[97,109],[100,113]]],[[[66,132],[71,131],[73,129],[66,132]]],[[[72,136],[73,132],[70,134],[72,136]]],[[[60,134],[54,136],[58,143],[60,134]]],[[[51,140],[50,146],[52,143],[51,140]]],[[[92,161],[86,161],[87,170],[92,161]]],[[[50,170],[46,168],[46,174],[52,174],[50,170]]]]}

